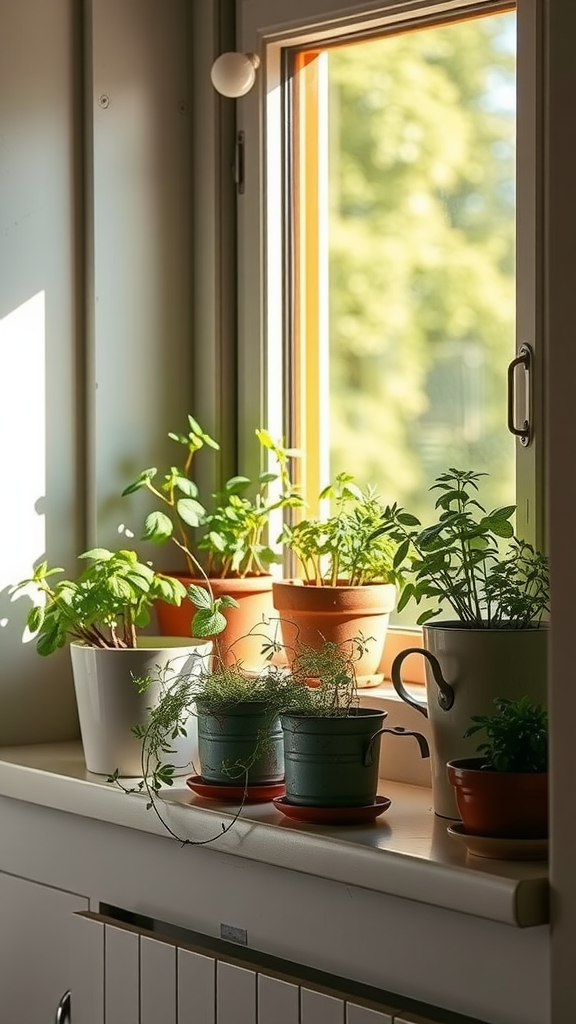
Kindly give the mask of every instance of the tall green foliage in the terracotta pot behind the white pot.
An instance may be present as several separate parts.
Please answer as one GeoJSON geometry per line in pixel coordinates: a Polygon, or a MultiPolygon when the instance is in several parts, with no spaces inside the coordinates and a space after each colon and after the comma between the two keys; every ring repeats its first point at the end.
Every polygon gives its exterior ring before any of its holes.
{"type": "Polygon", "coordinates": [[[199,574],[199,558],[210,578],[261,575],[270,571],[280,555],[269,544],[266,529],[273,514],[301,504],[289,474],[290,460],[298,453],[277,443],[266,430],[256,430],[262,451],[272,456],[275,468],[261,472],[256,481],[237,475],[212,496],[211,508],[200,500],[193,478],[194,457],[201,449],[218,450],[218,443],[189,416],[187,434],[168,436],[184,449],[183,464],[171,466],[161,482],[155,467],[143,470],[123,492],[142,487],[160,503],[145,522],[142,540],[163,544],[172,541],[183,553],[191,575],[199,574]],[[201,552],[202,555],[199,555],[201,552]]]}

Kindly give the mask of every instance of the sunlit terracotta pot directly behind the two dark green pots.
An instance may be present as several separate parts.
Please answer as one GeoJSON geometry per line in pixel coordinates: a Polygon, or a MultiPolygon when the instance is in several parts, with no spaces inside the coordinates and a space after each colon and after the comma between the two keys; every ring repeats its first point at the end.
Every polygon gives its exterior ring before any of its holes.
{"type": "Polygon", "coordinates": [[[275,581],[272,591],[289,662],[298,642],[319,648],[329,640],[352,653],[352,640],[362,635],[373,639],[356,663],[358,685],[377,686],[381,682],[386,630],[396,604],[394,584],[316,587],[302,580],[285,580],[275,581]]]}

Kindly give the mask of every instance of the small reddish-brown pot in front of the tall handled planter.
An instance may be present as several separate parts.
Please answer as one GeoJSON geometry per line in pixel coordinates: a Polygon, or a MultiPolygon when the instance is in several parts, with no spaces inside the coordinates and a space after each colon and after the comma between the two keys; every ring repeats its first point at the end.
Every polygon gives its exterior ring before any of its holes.
{"type": "Polygon", "coordinates": [[[458,758],[446,766],[466,831],[494,838],[545,839],[547,773],[488,771],[482,765],[482,758],[458,758]]]}

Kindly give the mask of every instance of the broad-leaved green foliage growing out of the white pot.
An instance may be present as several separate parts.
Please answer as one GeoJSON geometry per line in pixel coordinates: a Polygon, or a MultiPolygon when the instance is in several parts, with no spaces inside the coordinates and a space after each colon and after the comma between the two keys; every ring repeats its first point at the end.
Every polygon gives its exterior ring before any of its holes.
{"type": "Polygon", "coordinates": [[[154,602],[179,604],[186,596],[178,580],[156,572],[135,551],[92,548],[79,557],[87,564],[76,580],[54,583],[64,569],[42,562],[29,580],[11,588],[12,594],[42,598],[28,615],[39,654],[52,654],[69,640],[94,647],[136,647],[137,631],[148,626],[154,602]]]}

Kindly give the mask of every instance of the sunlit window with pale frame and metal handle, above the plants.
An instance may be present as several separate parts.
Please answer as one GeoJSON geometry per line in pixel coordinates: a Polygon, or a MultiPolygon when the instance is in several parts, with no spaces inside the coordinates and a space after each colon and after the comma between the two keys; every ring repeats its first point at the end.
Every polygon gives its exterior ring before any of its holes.
{"type": "Polygon", "coordinates": [[[306,497],[344,469],[425,516],[438,472],[486,470],[541,545],[536,0],[317,0],[288,26],[276,0],[239,6],[264,54],[261,109],[239,108],[243,364],[306,497]],[[506,427],[523,342],[529,447],[506,427]]]}

